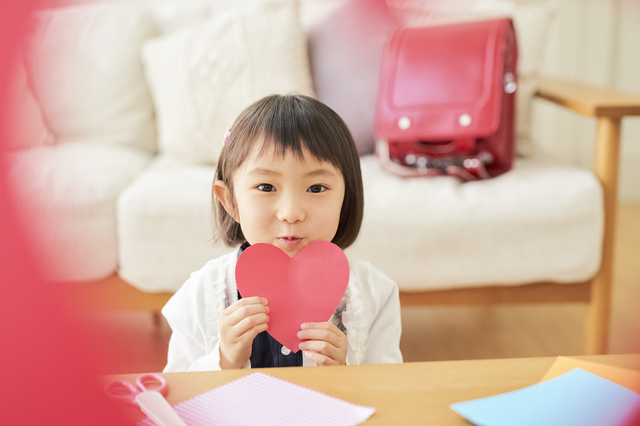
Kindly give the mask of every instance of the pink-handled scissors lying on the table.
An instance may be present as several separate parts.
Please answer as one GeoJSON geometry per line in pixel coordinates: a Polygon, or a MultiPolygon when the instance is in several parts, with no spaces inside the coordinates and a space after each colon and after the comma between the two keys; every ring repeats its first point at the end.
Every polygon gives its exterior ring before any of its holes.
{"type": "Polygon", "coordinates": [[[109,383],[104,388],[107,396],[115,401],[140,407],[140,410],[147,415],[158,426],[187,426],[178,416],[178,413],[164,399],[167,394],[167,380],[159,374],[142,374],[138,376],[134,386],[126,380],[116,380],[109,383]],[[155,381],[160,386],[155,389],[147,389],[145,382],[155,381]],[[123,394],[122,390],[128,393],[123,394]]]}

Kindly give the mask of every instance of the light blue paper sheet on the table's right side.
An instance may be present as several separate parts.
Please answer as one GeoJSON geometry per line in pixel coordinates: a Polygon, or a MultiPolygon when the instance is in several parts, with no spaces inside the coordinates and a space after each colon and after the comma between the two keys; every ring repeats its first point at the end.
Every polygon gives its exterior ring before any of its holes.
{"type": "Polygon", "coordinates": [[[478,426],[618,426],[640,409],[640,394],[576,368],[543,383],[451,408],[478,426]]]}

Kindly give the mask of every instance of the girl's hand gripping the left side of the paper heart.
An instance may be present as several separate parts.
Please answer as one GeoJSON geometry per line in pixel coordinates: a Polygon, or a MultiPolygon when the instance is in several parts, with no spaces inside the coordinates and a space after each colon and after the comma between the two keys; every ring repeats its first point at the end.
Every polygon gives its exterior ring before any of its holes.
{"type": "Polygon", "coordinates": [[[251,345],[258,333],[267,330],[267,299],[247,297],[225,309],[220,326],[220,368],[242,368],[251,356],[251,345]]]}

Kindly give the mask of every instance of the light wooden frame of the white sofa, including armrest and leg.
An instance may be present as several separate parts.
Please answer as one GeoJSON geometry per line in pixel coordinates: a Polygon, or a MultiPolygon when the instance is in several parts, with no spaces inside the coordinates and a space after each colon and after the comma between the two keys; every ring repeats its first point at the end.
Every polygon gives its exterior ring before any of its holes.
{"type": "MultiPolygon", "coordinates": [[[[536,96],[596,119],[593,171],[602,184],[604,195],[600,270],[593,279],[573,284],[542,282],[401,292],[400,302],[402,306],[587,303],[584,353],[604,354],[609,336],[620,129],[623,117],[640,116],[640,96],[559,78],[542,78],[536,96]]],[[[142,292],[117,275],[95,283],[66,284],[64,288],[71,303],[82,309],[147,310],[156,318],[171,297],[171,293],[142,292]]]]}

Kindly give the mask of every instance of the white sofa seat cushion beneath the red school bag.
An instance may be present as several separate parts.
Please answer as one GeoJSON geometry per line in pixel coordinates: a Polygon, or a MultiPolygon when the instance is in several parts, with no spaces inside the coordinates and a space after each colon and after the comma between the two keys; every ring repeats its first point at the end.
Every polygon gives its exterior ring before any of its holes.
{"type": "Polygon", "coordinates": [[[578,282],[600,264],[602,191],[592,173],[535,154],[497,178],[403,179],[362,158],[365,216],[348,250],[402,290],[578,282]]]}

